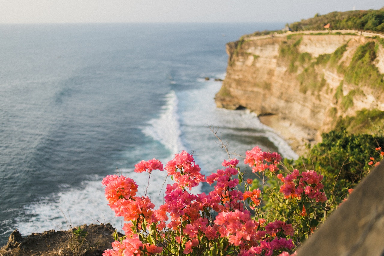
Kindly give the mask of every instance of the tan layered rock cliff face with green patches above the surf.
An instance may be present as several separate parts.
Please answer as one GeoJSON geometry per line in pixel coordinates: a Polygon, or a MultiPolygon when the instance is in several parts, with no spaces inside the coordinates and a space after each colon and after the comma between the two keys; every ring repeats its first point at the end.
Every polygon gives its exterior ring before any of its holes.
{"type": "Polygon", "coordinates": [[[215,101],[254,111],[300,151],[356,113],[384,111],[382,42],[360,33],[243,37],[227,44],[215,101]]]}

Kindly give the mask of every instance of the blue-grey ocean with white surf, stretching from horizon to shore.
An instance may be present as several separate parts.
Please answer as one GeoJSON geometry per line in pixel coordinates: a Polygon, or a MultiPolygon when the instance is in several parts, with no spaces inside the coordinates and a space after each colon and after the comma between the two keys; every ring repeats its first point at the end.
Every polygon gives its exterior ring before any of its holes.
{"type": "MultiPolygon", "coordinates": [[[[212,129],[231,153],[258,145],[297,157],[254,113],[214,103],[225,43],[283,26],[0,25],[0,245],[14,229],[24,236],[98,222],[121,229],[101,180],[122,173],[143,193],[147,176],[134,165],[165,164],[181,150],[209,175],[227,159],[212,129]]],[[[154,174],[148,194],[157,207],[170,179],[154,174]]]]}

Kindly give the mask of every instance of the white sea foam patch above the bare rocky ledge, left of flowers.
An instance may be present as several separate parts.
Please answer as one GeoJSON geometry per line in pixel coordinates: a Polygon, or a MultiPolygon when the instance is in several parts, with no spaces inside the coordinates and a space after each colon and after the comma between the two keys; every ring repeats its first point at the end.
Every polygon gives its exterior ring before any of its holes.
{"type": "Polygon", "coordinates": [[[121,229],[123,219],[115,217],[107,205],[101,177],[84,181],[79,188],[50,194],[25,206],[25,216],[18,217],[17,228],[23,235],[46,230],[67,230],[90,223],[111,223],[121,229]]]}

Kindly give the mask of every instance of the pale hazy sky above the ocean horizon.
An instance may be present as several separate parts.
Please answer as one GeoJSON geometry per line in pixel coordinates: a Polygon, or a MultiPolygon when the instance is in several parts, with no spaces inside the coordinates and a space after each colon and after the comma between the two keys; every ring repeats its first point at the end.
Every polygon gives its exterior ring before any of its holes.
{"type": "Polygon", "coordinates": [[[284,22],[383,0],[0,0],[0,23],[284,22]]]}

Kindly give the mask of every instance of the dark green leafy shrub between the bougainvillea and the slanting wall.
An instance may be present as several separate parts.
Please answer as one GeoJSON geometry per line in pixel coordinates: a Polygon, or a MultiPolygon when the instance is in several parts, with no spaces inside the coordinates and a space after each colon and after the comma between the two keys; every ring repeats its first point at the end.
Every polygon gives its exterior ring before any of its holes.
{"type": "Polygon", "coordinates": [[[384,146],[384,137],[369,134],[349,134],[341,129],[322,135],[307,157],[295,161],[295,168],[310,168],[324,175],[324,190],[328,191],[327,208],[341,202],[347,190],[356,185],[370,169],[367,160],[377,155],[375,148],[384,146]]]}

